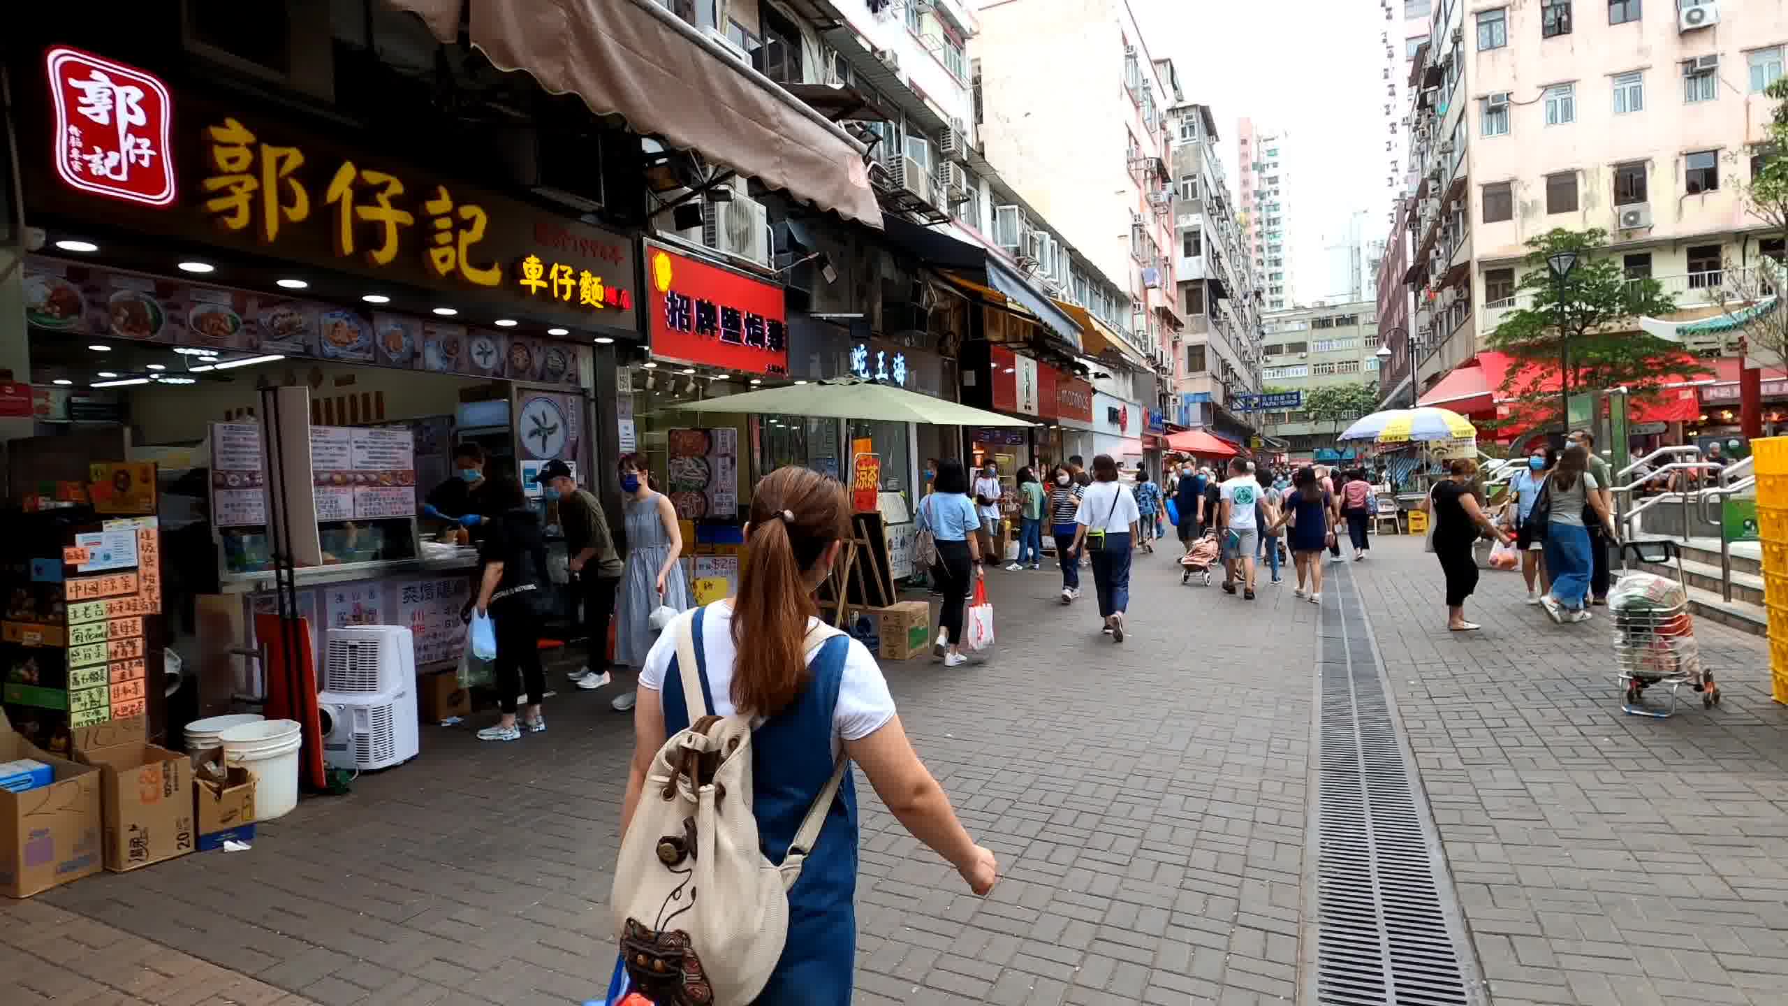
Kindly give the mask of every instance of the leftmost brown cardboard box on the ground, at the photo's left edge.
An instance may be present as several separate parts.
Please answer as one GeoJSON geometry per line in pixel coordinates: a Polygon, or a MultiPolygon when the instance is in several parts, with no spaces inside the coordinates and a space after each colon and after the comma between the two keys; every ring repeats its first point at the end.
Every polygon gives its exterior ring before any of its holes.
{"type": "Polygon", "coordinates": [[[100,772],[52,757],[0,712],[0,761],[41,761],[54,782],[0,791],[0,895],[30,897],[100,872],[100,772]]]}

